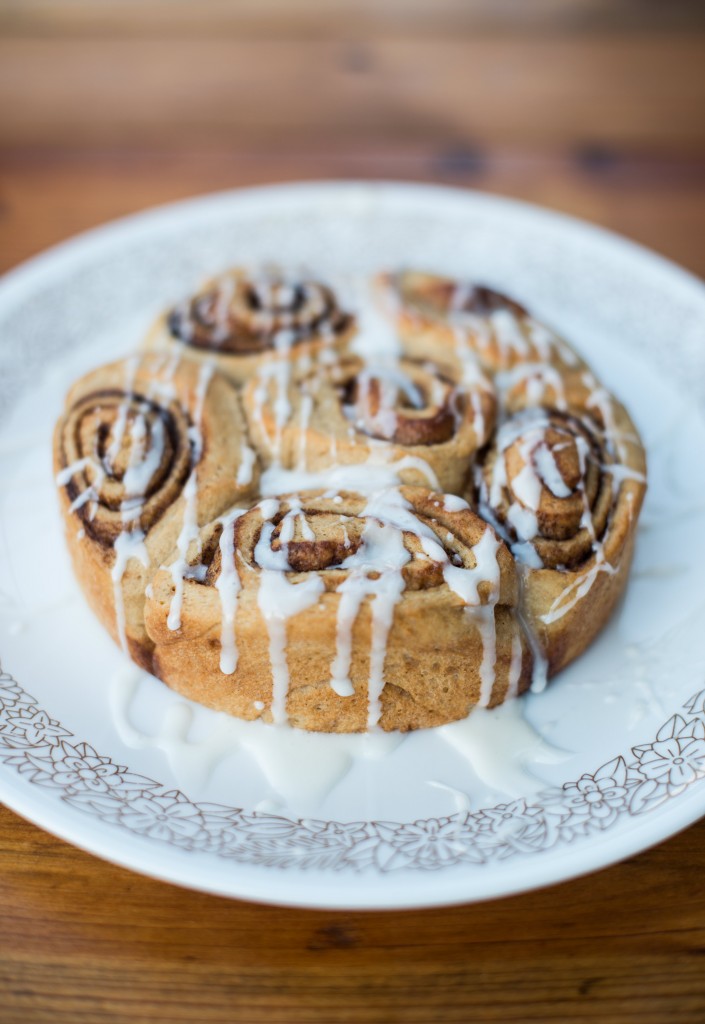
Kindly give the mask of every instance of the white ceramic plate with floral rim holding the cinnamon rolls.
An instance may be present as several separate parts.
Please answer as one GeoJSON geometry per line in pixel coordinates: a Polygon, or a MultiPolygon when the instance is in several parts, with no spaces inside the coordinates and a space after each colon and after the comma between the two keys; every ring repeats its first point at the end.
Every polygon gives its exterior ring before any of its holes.
{"type": "MultiPolygon", "coordinates": [[[[8,274],[2,800],[156,878],[327,907],[519,892],[694,821],[705,813],[704,324],[703,286],[628,242],[508,200],[419,185],[213,196],[89,232],[8,274]],[[516,752],[504,776],[482,758],[471,767],[429,730],[356,762],[306,804],[276,778],[273,790],[246,751],[218,748],[216,717],[184,709],[156,680],[143,679],[125,710],[123,655],[83,604],[64,551],[52,424],[67,384],[134,347],[165,304],[230,264],[273,258],[326,273],[415,265],[506,290],[574,342],[642,432],[650,492],[627,598],[588,653],[523,702],[543,737],[522,756],[529,771],[514,770],[516,752]]],[[[479,748],[494,745],[486,725],[479,748]]]]}

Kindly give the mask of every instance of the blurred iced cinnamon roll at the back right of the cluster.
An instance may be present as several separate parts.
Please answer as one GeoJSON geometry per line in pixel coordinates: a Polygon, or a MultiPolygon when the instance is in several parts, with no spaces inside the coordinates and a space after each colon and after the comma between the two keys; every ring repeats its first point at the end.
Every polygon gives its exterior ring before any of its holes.
{"type": "Polygon", "coordinates": [[[382,302],[416,358],[478,362],[488,373],[522,362],[579,367],[581,360],[514,299],[482,285],[417,271],[380,274],[382,302]]]}

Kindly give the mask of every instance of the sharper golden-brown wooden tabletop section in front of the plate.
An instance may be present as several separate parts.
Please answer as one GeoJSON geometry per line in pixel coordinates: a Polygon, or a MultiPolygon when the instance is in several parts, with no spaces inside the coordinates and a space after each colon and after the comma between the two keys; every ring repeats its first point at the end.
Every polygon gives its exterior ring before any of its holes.
{"type": "Polygon", "coordinates": [[[599,874],[386,913],[227,901],[0,813],[0,1020],[705,1019],[705,823],[599,874]]]}

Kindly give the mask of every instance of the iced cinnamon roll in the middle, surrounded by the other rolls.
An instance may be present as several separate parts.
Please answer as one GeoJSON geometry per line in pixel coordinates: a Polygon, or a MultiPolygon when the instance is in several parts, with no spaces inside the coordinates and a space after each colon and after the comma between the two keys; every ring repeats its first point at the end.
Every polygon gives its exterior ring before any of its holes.
{"type": "Polygon", "coordinates": [[[486,378],[462,386],[429,362],[344,358],[291,382],[255,378],[243,392],[262,462],[303,471],[393,467],[405,483],[460,492],[490,437],[495,396],[486,378]]]}

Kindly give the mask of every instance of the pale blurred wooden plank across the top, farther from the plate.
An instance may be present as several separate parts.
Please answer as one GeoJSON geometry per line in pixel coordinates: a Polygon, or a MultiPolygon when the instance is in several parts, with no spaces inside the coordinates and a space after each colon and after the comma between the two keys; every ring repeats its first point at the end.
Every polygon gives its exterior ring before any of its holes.
{"type": "Polygon", "coordinates": [[[705,146],[705,37],[0,38],[0,143],[705,146]]]}

